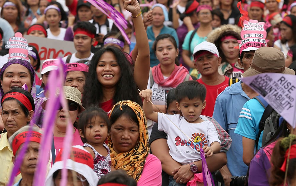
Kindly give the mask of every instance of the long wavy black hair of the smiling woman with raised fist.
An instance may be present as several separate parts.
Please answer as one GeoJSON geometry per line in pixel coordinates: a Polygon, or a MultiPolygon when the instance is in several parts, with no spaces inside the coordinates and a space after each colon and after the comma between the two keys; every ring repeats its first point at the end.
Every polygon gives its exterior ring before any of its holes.
{"type": "Polygon", "coordinates": [[[108,46],[98,50],[91,58],[89,72],[84,85],[84,94],[82,96],[83,106],[88,108],[89,105],[100,105],[103,101],[103,85],[98,81],[96,67],[99,59],[105,52],[112,52],[115,55],[120,68],[120,78],[115,85],[116,90],[113,97],[113,104],[122,100],[131,100],[142,105],[136,82],[133,79],[133,71],[128,60],[120,49],[108,46]]]}

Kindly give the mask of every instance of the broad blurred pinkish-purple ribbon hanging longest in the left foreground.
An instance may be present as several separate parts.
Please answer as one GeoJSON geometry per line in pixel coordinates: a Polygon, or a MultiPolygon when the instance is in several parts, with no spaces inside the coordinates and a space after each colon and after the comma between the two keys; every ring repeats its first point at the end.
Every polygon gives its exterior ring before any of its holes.
{"type": "Polygon", "coordinates": [[[49,100],[46,103],[46,114],[44,117],[44,133],[41,138],[41,149],[39,151],[39,157],[36,172],[38,174],[35,174],[34,176],[34,186],[38,185],[44,185],[45,179],[46,179],[46,171],[47,171],[47,164],[49,160],[49,150],[51,149],[51,143],[53,140],[53,127],[57,115],[57,110],[59,108],[59,100],[61,95],[64,95],[63,93],[59,95],[59,97],[56,97],[57,89],[60,90],[60,92],[63,92],[63,83],[64,83],[64,73],[66,66],[64,63],[61,63],[60,61],[57,62],[57,66],[59,68],[57,70],[53,70],[49,74],[49,81],[48,81],[48,90],[49,90],[49,100]]]}

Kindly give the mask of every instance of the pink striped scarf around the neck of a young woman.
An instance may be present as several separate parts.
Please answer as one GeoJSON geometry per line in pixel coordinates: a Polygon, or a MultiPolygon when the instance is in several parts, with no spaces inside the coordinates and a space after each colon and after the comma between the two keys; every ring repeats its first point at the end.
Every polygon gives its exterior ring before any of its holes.
{"type": "MultiPolygon", "coordinates": [[[[163,78],[163,73],[161,72],[160,64],[152,67],[152,75],[155,83],[162,87],[173,87],[176,88],[180,83],[184,81],[187,74],[189,74],[188,70],[184,66],[175,65],[175,69],[172,74],[167,79],[163,78]]],[[[192,80],[191,76],[189,80],[192,80]]]]}

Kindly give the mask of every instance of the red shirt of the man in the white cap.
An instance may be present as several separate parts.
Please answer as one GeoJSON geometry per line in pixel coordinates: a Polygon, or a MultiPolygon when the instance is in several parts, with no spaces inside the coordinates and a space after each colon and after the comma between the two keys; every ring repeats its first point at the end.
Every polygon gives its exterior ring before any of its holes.
{"type": "Polygon", "coordinates": [[[199,82],[200,84],[205,85],[205,88],[207,89],[207,94],[205,96],[205,100],[206,100],[206,106],[205,109],[202,110],[201,115],[206,115],[206,116],[213,116],[213,112],[214,112],[214,106],[215,106],[215,102],[217,99],[217,96],[226,88],[229,86],[229,77],[225,77],[225,81],[223,81],[222,83],[218,84],[218,85],[207,85],[205,84],[202,79],[198,79],[197,82],[199,82]]]}

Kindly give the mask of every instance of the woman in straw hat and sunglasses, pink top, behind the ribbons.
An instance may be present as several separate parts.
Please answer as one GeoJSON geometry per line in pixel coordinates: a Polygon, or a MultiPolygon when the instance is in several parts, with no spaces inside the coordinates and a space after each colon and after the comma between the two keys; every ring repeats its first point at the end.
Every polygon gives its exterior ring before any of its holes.
{"type": "MultiPolygon", "coordinates": [[[[51,156],[54,160],[56,153],[59,152],[63,147],[64,139],[66,136],[66,130],[68,125],[68,120],[73,123],[73,141],[71,145],[83,145],[81,138],[79,136],[78,130],[74,127],[74,123],[80,112],[84,111],[84,107],[81,104],[81,93],[75,87],[64,86],[64,95],[68,103],[68,111],[66,108],[60,106],[57,112],[57,118],[55,119],[55,125],[53,128],[54,144],[51,147],[51,156]]],[[[59,95],[59,92],[56,94],[59,95]]],[[[48,100],[43,102],[42,107],[46,109],[46,103],[48,100]]],[[[51,161],[53,164],[54,162],[51,161]]]]}

